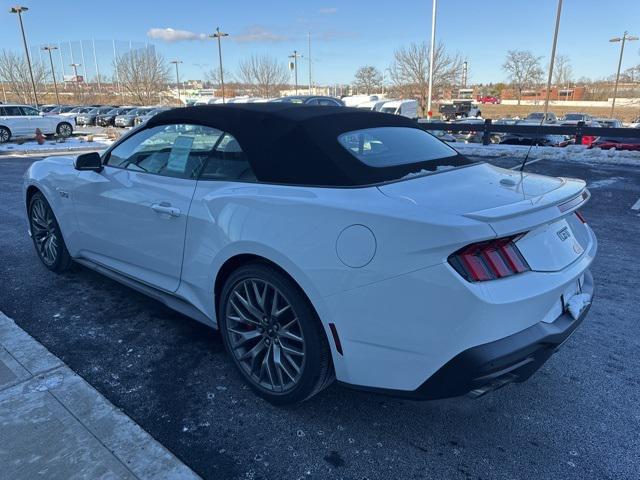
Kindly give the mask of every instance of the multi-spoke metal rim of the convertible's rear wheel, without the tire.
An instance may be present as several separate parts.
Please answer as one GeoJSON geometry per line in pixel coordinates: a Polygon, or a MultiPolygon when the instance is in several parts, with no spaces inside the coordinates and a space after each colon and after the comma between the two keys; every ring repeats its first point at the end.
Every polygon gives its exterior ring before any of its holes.
{"type": "Polygon", "coordinates": [[[230,349],[247,376],[274,393],[293,389],[302,376],[305,341],[286,297],[271,283],[238,282],[226,306],[230,349]]]}

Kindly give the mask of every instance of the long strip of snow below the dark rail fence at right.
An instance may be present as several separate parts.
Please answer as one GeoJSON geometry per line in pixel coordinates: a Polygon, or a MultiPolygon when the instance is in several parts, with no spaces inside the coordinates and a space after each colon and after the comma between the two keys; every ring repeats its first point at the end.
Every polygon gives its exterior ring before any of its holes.
{"type": "MultiPolygon", "coordinates": [[[[471,157],[524,158],[529,151],[529,147],[524,145],[481,145],[479,143],[450,143],[449,145],[461,154],[471,157]]],[[[587,148],[583,145],[569,145],[567,147],[534,146],[531,148],[529,160],[534,159],[640,166],[640,151],[602,150],[600,148],[587,148]]]]}

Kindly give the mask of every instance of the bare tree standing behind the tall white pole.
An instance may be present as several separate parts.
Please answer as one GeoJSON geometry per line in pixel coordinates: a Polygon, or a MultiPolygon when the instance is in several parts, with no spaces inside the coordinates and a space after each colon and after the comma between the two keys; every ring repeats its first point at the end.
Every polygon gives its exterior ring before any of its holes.
{"type": "MultiPolygon", "coordinates": [[[[444,45],[436,45],[433,59],[433,86],[441,89],[455,85],[462,74],[462,59],[451,55],[444,45]]],[[[403,97],[418,98],[425,114],[429,85],[429,47],[426,43],[411,43],[398,48],[390,67],[391,81],[403,97]]]]}

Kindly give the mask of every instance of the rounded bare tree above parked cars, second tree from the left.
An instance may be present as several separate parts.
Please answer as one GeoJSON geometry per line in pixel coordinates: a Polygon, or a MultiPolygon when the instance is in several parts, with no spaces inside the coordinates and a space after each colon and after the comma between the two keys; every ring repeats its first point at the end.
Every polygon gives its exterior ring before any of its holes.
{"type": "Polygon", "coordinates": [[[152,48],[132,50],[114,62],[117,81],[136,102],[151,104],[169,83],[169,65],[152,48]]]}

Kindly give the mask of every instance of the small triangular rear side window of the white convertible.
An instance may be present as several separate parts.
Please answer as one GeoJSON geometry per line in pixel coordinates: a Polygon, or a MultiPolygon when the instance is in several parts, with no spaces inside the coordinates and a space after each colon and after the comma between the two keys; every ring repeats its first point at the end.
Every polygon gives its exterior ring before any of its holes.
{"type": "Polygon", "coordinates": [[[255,182],[256,176],[238,141],[225,133],[209,156],[200,180],[255,182]]]}

